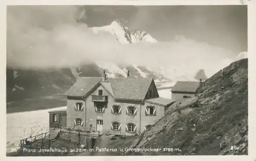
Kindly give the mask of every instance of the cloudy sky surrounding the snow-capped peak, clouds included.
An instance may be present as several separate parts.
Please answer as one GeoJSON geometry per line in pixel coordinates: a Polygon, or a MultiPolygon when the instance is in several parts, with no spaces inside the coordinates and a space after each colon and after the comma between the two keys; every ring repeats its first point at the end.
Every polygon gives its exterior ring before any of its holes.
{"type": "MultiPolygon", "coordinates": [[[[217,72],[247,51],[246,6],[8,6],[7,66],[52,68],[91,64],[161,66],[217,72]],[[79,21],[78,21],[79,19],[79,21]],[[119,19],[157,43],[121,44],[92,27],[119,19]]],[[[188,70],[189,69],[189,70],[188,70]]]]}

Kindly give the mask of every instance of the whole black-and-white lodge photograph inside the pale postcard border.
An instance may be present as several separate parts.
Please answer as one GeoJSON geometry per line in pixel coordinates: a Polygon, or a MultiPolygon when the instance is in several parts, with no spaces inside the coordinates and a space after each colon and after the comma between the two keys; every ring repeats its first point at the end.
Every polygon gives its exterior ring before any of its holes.
{"type": "Polygon", "coordinates": [[[247,5],[6,10],[7,157],[248,155],[247,5]]]}

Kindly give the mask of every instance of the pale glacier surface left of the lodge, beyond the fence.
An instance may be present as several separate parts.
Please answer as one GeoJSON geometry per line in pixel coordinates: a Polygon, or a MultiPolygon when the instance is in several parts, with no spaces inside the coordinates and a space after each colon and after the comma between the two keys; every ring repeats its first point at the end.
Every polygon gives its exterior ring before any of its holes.
{"type": "Polygon", "coordinates": [[[19,148],[20,140],[49,131],[49,111],[60,108],[7,114],[7,152],[19,148]]]}

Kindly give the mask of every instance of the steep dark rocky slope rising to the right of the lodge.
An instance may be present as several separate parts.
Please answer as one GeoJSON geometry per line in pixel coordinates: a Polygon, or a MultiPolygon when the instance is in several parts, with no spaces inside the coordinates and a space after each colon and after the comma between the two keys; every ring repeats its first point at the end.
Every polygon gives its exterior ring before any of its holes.
{"type": "Polygon", "coordinates": [[[130,146],[143,147],[173,149],[123,155],[248,154],[248,59],[208,78],[195,97],[169,106],[166,116],[130,146]]]}

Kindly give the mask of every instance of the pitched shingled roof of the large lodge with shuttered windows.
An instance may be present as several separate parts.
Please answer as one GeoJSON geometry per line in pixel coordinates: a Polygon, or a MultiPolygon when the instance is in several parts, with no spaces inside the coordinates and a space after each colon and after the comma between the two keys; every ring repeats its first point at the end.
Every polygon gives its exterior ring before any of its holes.
{"type": "Polygon", "coordinates": [[[152,78],[108,78],[101,82],[102,77],[80,77],[66,92],[68,96],[84,96],[97,84],[101,84],[116,99],[143,100],[153,81],[152,78]]]}

